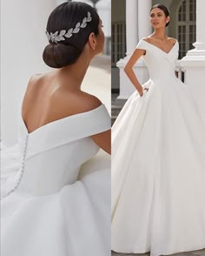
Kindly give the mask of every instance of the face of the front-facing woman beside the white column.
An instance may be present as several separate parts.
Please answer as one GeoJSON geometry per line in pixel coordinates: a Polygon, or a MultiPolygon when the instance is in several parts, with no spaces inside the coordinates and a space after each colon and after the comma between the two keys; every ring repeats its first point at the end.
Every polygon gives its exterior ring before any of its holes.
{"type": "Polygon", "coordinates": [[[165,27],[169,22],[169,17],[165,16],[163,10],[159,8],[154,8],[150,11],[150,23],[154,29],[160,29],[165,27]]]}

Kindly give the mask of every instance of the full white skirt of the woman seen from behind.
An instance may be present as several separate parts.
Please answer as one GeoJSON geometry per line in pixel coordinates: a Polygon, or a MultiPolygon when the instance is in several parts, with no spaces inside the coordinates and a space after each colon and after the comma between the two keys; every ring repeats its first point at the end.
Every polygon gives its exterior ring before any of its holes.
{"type": "MultiPolygon", "coordinates": [[[[17,183],[17,145],[1,154],[2,196],[17,183]]],[[[81,179],[46,196],[12,192],[1,201],[2,256],[105,256],[110,253],[110,166],[103,152],[81,179]]]]}

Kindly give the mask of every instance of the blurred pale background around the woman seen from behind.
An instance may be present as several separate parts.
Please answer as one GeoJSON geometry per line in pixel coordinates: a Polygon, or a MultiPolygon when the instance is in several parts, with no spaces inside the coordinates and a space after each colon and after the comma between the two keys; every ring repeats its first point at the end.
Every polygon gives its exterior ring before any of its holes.
{"type": "MultiPolygon", "coordinates": [[[[1,142],[17,142],[19,105],[30,76],[51,69],[43,63],[48,44],[45,29],[59,0],[1,0],[1,142]]],[[[96,7],[105,34],[104,54],[96,57],[83,81],[83,91],[95,94],[111,108],[111,0],[81,1],[96,7]]]]}

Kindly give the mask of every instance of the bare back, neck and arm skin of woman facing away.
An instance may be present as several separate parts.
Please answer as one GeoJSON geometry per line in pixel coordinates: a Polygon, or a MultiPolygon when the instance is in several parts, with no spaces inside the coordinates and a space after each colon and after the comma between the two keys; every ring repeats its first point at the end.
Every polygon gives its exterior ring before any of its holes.
{"type": "MultiPolygon", "coordinates": [[[[102,53],[103,44],[104,34],[100,21],[99,35],[89,35],[83,53],[75,64],[30,78],[22,108],[23,121],[29,132],[58,119],[91,111],[102,104],[95,96],[81,91],[81,84],[91,59],[102,53]]],[[[102,150],[111,153],[110,130],[91,138],[102,150]]]]}

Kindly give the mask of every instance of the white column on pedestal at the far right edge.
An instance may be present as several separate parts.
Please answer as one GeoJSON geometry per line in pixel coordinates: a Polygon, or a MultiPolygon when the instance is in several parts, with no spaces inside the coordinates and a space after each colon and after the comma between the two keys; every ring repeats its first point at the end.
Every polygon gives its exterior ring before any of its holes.
{"type": "Polygon", "coordinates": [[[185,84],[193,93],[193,96],[199,106],[202,118],[205,121],[205,1],[196,1],[196,42],[194,50],[188,51],[182,58],[181,65],[185,71],[185,84]]]}

